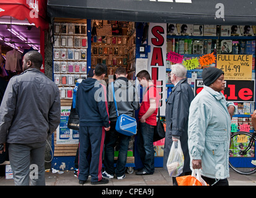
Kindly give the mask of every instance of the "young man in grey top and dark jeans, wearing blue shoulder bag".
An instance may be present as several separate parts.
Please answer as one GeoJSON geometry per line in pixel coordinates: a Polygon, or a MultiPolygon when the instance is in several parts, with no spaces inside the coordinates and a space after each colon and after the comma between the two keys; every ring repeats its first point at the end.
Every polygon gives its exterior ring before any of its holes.
{"type": "MultiPolygon", "coordinates": [[[[133,84],[127,79],[126,69],[118,67],[115,71],[117,80],[115,80],[115,98],[117,101],[117,108],[119,114],[126,114],[134,116],[133,113],[139,108],[138,94],[133,84]]],[[[108,85],[108,110],[110,119],[110,131],[105,136],[105,156],[104,167],[105,171],[102,173],[104,178],[112,179],[116,174],[117,179],[125,178],[125,165],[127,158],[127,151],[130,136],[115,131],[115,124],[117,123],[117,113],[115,110],[115,103],[113,101],[112,84],[108,85]],[[114,169],[114,147],[119,142],[119,153],[116,169],[114,169]]]]}

